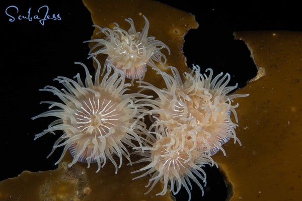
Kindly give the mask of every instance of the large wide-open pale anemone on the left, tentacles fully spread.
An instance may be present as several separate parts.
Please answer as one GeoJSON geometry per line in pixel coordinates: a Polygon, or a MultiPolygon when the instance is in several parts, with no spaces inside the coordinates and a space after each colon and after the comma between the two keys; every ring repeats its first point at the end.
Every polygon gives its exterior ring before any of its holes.
{"type": "MultiPolygon", "coordinates": [[[[95,59],[96,60],[96,59],[95,59]]],[[[146,133],[145,124],[140,118],[141,109],[134,102],[136,97],[148,97],[142,94],[126,94],[130,83],[125,83],[124,73],[121,70],[111,72],[112,67],[107,66],[107,73],[100,81],[101,65],[98,63],[94,83],[87,67],[85,68],[85,84],[82,82],[79,73],[74,77],[77,81],[66,77],[58,77],[54,80],[63,84],[65,89],[61,91],[53,86],[46,86],[41,91],[49,91],[57,95],[63,103],[42,102],[50,104],[58,110],[50,110],[32,119],[54,116],[59,119],[52,122],[48,129],[37,134],[35,139],[46,133],[55,134],[55,131],[63,131],[63,135],[55,142],[51,153],[58,147],[64,147],[63,153],[56,164],[62,160],[69,149],[73,156],[70,167],[77,161],[98,163],[98,170],[103,167],[109,159],[115,166],[121,167],[122,156],[129,162],[127,145],[135,147],[137,144],[143,146],[141,134],[146,133]],[[136,145],[133,144],[133,142],[136,145]],[[126,146],[125,146],[126,145],[126,146]],[[117,166],[113,155],[119,157],[117,166]]]]}

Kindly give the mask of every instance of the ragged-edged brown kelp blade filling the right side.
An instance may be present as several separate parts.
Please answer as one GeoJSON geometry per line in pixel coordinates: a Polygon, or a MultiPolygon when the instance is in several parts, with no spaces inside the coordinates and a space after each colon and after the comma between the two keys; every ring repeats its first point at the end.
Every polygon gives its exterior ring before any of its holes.
{"type": "MultiPolygon", "coordinates": [[[[302,200],[302,33],[236,32],[251,51],[257,77],[237,91],[242,147],[213,158],[233,185],[231,200],[302,200]]],[[[243,66],[244,67],[244,66],[243,66]]]]}

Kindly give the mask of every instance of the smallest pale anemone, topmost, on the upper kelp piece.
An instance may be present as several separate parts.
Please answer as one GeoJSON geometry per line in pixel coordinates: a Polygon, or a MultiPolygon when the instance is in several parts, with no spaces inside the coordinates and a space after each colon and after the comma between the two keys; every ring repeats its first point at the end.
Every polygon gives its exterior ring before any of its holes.
{"type": "Polygon", "coordinates": [[[161,52],[161,49],[166,48],[170,54],[170,49],[162,41],[155,40],[155,37],[147,37],[149,22],[145,16],[145,26],[141,32],[137,32],[131,18],[126,19],[130,24],[130,29],[127,31],[121,29],[117,23],[111,30],[109,28],[101,28],[98,25],[95,27],[100,29],[99,33],[104,33],[105,39],[93,39],[86,42],[96,42],[90,52],[90,57],[98,54],[107,54],[105,66],[111,64],[115,68],[121,69],[125,73],[125,77],[132,79],[143,79],[147,70],[147,66],[158,68],[154,61],[164,67],[166,56],[161,52]],[[162,58],[164,61],[162,61],[162,58]]]}

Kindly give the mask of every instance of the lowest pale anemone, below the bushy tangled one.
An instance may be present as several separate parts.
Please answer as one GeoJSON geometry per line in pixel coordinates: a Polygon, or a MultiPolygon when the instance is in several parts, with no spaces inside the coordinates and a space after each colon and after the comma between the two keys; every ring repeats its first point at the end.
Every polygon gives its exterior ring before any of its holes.
{"type": "Polygon", "coordinates": [[[194,138],[189,138],[192,133],[184,126],[171,130],[163,124],[156,127],[152,133],[155,134],[156,139],[154,138],[151,146],[136,148],[135,154],[144,157],[133,163],[148,162],[148,165],[132,172],[145,171],[133,179],[151,174],[152,177],[146,185],[150,188],[146,193],[149,193],[159,181],[164,184],[164,189],[156,195],[166,194],[168,186],[173,194],[177,194],[184,186],[189,194],[189,200],[191,199],[191,181],[194,181],[202,190],[203,195],[201,183],[206,185],[206,174],[201,167],[205,164],[215,164],[207,154],[199,151],[206,147],[196,146],[194,138]]]}

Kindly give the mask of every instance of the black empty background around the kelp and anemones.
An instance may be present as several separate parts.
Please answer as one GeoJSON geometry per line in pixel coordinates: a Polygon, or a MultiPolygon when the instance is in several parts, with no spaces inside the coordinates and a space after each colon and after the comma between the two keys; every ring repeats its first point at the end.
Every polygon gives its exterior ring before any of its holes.
{"type": "MultiPolygon", "coordinates": [[[[214,72],[229,72],[232,83],[243,87],[256,75],[250,52],[242,41],[235,41],[234,31],[290,30],[301,31],[300,7],[290,1],[160,1],[196,16],[197,30],[185,37],[184,54],[188,66],[198,64],[211,67],[214,72]]],[[[156,11],[155,11],[156,12],[156,11]]],[[[89,40],[93,32],[90,13],[82,1],[0,1],[0,180],[15,177],[24,170],[55,169],[54,163],[61,152],[50,158],[57,136],[47,135],[33,141],[34,135],[43,131],[51,118],[35,121],[31,117],[47,110],[41,100],[58,100],[49,92],[40,92],[45,85],[54,85],[56,76],[73,77],[83,68],[73,64],[87,60],[89,40]],[[5,14],[9,6],[17,6],[19,13],[27,15],[44,5],[49,14],[59,14],[62,20],[16,20],[9,22],[5,14]]],[[[194,186],[192,200],[224,200],[227,190],[216,168],[205,168],[207,186],[205,195],[194,186]]],[[[187,199],[187,193],[177,195],[187,199]],[[183,197],[182,197],[183,195],[183,197]]]]}

